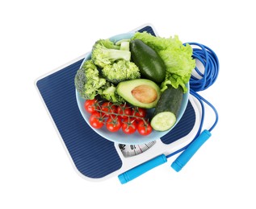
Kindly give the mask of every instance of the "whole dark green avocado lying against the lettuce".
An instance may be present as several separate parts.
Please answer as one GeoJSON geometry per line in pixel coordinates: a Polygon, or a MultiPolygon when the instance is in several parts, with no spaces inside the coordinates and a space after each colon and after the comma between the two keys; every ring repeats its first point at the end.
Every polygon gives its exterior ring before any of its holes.
{"type": "Polygon", "coordinates": [[[131,59],[140,69],[141,77],[152,80],[158,84],[166,78],[166,65],[153,48],[141,39],[130,42],[131,59]]]}

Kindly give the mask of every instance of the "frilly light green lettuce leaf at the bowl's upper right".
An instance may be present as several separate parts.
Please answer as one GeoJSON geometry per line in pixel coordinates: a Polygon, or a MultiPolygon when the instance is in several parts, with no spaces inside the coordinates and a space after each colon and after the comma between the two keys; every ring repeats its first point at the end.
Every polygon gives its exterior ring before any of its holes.
{"type": "Polygon", "coordinates": [[[185,84],[191,78],[191,72],[195,68],[195,59],[192,58],[193,49],[189,44],[186,46],[175,35],[168,39],[156,37],[149,33],[136,32],[132,39],[141,39],[162,58],[166,65],[166,80],[162,83],[162,92],[166,90],[167,84],[174,88],[183,87],[187,92],[185,84]]]}

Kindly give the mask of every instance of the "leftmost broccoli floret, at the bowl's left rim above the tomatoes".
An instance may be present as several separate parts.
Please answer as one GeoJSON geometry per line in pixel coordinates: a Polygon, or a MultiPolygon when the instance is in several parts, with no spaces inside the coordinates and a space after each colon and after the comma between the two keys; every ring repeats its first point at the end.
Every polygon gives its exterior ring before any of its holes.
{"type": "Polygon", "coordinates": [[[82,65],[74,78],[75,87],[86,100],[94,99],[106,82],[104,78],[99,77],[99,71],[91,59],[82,65]]]}

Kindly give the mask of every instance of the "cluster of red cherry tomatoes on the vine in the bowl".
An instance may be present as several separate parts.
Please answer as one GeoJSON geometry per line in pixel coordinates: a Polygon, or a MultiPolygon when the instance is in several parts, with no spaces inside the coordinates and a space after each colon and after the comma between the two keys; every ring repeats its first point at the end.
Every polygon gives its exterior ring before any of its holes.
{"type": "Polygon", "coordinates": [[[101,129],[103,125],[106,125],[110,132],[122,129],[124,133],[132,134],[137,130],[144,136],[152,132],[152,127],[146,119],[145,109],[98,100],[86,100],[84,108],[90,113],[89,121],[94,129],[101,129]]]}

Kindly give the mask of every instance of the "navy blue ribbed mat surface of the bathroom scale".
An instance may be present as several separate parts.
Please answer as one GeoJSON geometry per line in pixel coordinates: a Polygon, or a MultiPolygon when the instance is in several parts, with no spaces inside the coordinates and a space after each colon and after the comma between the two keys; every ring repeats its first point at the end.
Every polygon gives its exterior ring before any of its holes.
{"type": "MultiPolygon", "coordinates": [[[[139,31],[155,35],[152,27],[139,31]]],[[[103,178],[119,170],[122,161],[114,143],[90,129],[78,109],[73,80],[82,60],[45,76],[36,85],[77,169],[88,178],[103,178]]],[[[181,121],[162,142],[170,144],[186,136],[194,123],[195,111],[189,102],[181,121]]]]}

